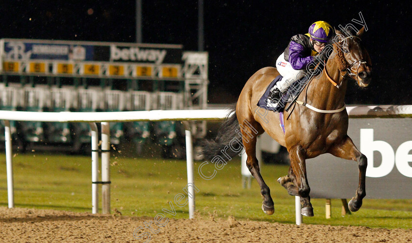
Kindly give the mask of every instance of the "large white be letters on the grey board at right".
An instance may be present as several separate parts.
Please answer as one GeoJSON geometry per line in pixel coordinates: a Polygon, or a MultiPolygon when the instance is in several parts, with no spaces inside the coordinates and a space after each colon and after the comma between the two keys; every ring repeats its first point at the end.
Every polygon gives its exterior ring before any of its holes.
{"type": "Polygon", "coordinates": [[[373,140],[373,129],[360,129],[360,152],[368,158],[368,177],[386,176],[395,165],[401,174],[412,177],[412,167],[409,165],[412,162],[412,154],[409,154],[411,150],[412,141],[404,142],[394,151],[387,142],[373,140]],[[382,154],[382,163],[377,167],[373,165],[373,151],[382,154]]]}

